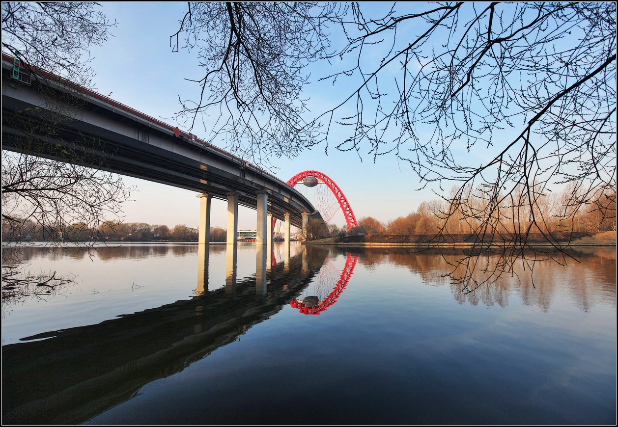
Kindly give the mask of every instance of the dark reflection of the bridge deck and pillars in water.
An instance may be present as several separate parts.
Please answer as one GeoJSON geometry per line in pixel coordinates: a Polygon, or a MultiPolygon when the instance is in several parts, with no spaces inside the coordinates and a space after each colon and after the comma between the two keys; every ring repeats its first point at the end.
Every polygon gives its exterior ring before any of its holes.
{"type": "MultiPolygon", "coordinates": [[[[277,262],[266,245],[257,245],[263,249],[256,250],[256,275],[237,280],[237,246],[227,245],[225,286],[209,291],[203,246],[192,299],[3,346],[4,423],[80,423],[130,399],[145,384],[236,341],[284,305],[298,304],[329,253],[303,246],[292,257],[284,251],[277,262]]],[[[348,279],[356,258],[347,259],[348,279]]],[[[332,286],[341,293],[341,283],[332,286]]]]}

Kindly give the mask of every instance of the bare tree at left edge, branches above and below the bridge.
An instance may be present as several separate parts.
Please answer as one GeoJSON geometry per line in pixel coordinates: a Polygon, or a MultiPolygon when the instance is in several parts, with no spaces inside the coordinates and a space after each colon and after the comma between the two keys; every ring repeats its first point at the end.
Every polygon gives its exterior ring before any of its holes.
{"type": "MultiPolygon", "coordinates": [[[[119,218],[121,204],[129,197],[129,188],[119,176],[81,166],[99,164],[103,168],[102,160],[85,159],[88,154],[72,151],[67,148],[70,144],[53,146],[47,141],[59,139],[54,129],[80,107],[75,101],[66,106],[72,97],[63,97],[62,91],[51,88],[50,81],[60,77],[88,85],[93,75],[88,68],[88,48],[103,43],[114,25],[96,7],[91,2],[2,2],[2,54],[14,58],[12,78],[36,85],[49,106],[65,105],[54,112],[2,114],[3,135],[8,128],[20,129],[19,135],[11,135],[18,152],[2,150],[3,244],[21,241],[25,227],[34,223],[44,239],[85,241],[83,247],[91,249],[101,240],[99,225],[110,216],[119,218]],[[30,155],[33,152],[44,152],[46,157],[30,155]]],[[[3,75],[4,84],[14,83],[3,75]]],[[[87,139],[87,143],[95,152],[98,141],[87,139]]],[[[2,261],[3,299],[5,294],[14,297],[18,288],[22,295],[36,294],[33,289],[70,281],[55,273],[30,273],[19,257],[2,261]]]]}

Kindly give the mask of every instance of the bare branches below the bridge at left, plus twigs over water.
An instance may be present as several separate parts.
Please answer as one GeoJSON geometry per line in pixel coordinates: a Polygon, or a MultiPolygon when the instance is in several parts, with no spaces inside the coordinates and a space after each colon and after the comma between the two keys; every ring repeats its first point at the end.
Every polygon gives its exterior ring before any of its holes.
{"type": "MultiPolygon", "coordinates": [[[[2,122],[6,125],[6,117],[2,122]]],[[[43,144],[30,135],[22,143],[23,152],[2,150],[2,244],[12,244],[15,251],[28,233],[56,245],[79,244],[86,251],[104,242],[101,225],[119,223],[122,203],[129,199],[130,189],[122,178],[81,166],[89,155],[56,147],[62,151],[59,159],[72,162],[66,163],[25,154],[30,149],[37,152],[33,144],[43,144]]],[[[49,294],[72,281],[55,272],[33,273],[19,256],[4,257],[9,253],[3,251],[3,299],[49,294]]]]}

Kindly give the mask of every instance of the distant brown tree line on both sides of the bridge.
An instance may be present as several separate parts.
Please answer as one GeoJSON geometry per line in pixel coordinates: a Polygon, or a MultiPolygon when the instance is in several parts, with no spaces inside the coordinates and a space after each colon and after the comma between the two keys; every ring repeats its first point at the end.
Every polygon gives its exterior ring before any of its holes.
{"type": "MultiPolygon", "coordinates": [[[[475,234],[480,226],[486,227],[484,233],[554,233],[558,231],[591,232],[616,231],[616,191],[603,192],[593,202],[572,203],[573,188],[566,188],[562,193],[539,196],[533,209],[523,209],[512,203],[509,197],[502,198],[501,204],[491,204],[490,199],[483,198],[483,191],[467,190],[468,199],[461,202],[455,194],[460,191],[453,188],[451,200],[434,199],[424,201],[418,209],[404,217],[395,218],[387,223],[374,217],[363,217],[358,226],[352,230],[330,224],[328,229],[318,220],[311,218],[304,238],[315,240],[329,236],[345,234],[475,234]],[[481,223],[480,212],[491,210],[493,221],[481,223]],[[536,212],[542,210],[542,212],[536,212]],[[540,220],[539,218],[543,218],[540,220]]],[[[523,189],[522,189],[523,191],[523,189]]],[[[53,236],[56,241],[88,241],[93,234],[84,223],[75,223],[54,231],[53,225],[43,225],[25,220],[15,226],[14,222],[2,222],[2,241],[42,241],[53,236]],[[61,235],[56,235],[62,233],[61,235]]],[[[143,222],[118,223],[103,222],[98,233],[104,241],[127,242],[197,242],[198,229],[184,224],[170,229],[167,225],[151,225],[143,222]]],[[[210,228],[211,242],[226,241],[226,230],[219,227],[210,228]]]]}

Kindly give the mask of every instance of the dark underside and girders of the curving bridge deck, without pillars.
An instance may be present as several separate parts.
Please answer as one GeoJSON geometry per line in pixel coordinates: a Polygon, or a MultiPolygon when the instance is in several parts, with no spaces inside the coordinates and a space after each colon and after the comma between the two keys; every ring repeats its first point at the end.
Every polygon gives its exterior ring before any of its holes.
{"type": "MultiPolygon", "coordinates": [[[[17,85],[10,86],[15,89],[17,85]]],[[[79,163],[218,199],[227,200],[227,194],[235,191],[239,204],[252,209],[257,207],[256,194],[267,191],[268,211],[280,220],[284,213],[290,213],[290,223],[299,228],[302,212],[315,210],[302,194],[285,184],[267,182],[252,168],[239,164],[238,159],[209,151],[184,136],[170,135],[168,130],[108,105],[83,102],[78,110],[80,117],[67,118],[62,124],[54,120],[54,128],[49,131],[46,113],[38,108],[40,96],[7,96],[6,89],[4,86],[2,93],[2,149],[79,163]],[[36,143],[26,137],[27,133],[35,134],[36,143]]],[[[32,90],[24,88],[26,91],[32,90]]]]}

